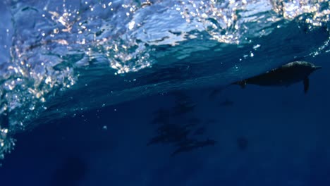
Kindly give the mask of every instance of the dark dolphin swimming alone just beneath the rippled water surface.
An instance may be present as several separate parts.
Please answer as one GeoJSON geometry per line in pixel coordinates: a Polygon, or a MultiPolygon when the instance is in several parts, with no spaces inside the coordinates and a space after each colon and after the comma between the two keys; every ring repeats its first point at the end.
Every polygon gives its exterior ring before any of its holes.
{"type": "Polygon", "coordinates": [[[314,72],[314,70],[320,68],[320,66],[314,66],[314,64],[306,61],[294,61],[279,68],[269,70],[267,73],[233,82],[231,85],[240,85],[242,88],[244,88],[246,84],[288,87],[289,85],[302,81],[304,83],[304,91],[306,94],[310,87],[308,76],[314,72]]]}

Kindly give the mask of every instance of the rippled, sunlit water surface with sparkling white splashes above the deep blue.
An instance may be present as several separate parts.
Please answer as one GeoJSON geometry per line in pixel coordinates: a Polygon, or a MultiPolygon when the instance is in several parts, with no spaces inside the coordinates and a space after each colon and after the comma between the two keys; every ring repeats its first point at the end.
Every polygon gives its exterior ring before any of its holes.
{"type": "Polygon", "coordinates": [[[329,1],[1,1],[0,156],[16,132],[329,52],[329,1]],[[303,38],[303,39],[302,39],[303,38]]]}

